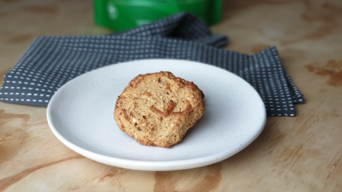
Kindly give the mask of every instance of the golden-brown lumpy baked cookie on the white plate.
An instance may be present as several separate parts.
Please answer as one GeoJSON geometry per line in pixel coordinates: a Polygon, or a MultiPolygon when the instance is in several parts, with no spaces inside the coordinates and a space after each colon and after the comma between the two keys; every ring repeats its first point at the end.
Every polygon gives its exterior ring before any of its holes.
{"type": "Polygon", "coordinates": [[[171,72],[140,74],[118,96],[114,119],[138,143],[171,147],[201,118],[203,98],[193,82],[171,72]]]}

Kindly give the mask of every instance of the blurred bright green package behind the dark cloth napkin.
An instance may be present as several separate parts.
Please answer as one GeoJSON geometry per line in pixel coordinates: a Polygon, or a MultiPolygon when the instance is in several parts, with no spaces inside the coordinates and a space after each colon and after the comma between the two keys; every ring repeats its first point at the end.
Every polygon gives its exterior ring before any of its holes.
{"type": "Polygon", "coordinates": [[[116,32],[187,11],[208,25],[221,18],[221,0],[93,0],[94,22],[116,32]]]}

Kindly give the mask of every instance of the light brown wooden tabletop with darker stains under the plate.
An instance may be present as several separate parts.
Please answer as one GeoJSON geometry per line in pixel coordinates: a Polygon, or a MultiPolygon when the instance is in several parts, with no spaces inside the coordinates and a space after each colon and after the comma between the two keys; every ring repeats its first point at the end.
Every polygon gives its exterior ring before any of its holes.
{"type": "MultiPolygon", "coordinates": [[[[0,2],[0,80],[39,35],[110,33],[91,1],[0,2]]],[[[223,3],[211,27],[226,49],[275,45],[304,94],[295,117],[269,116],[247,148],[206,167],[149,172],[97,163],[50,131],[45,107],[0,102],[0,191],[342,191],[342,1],[223,3]]]]}

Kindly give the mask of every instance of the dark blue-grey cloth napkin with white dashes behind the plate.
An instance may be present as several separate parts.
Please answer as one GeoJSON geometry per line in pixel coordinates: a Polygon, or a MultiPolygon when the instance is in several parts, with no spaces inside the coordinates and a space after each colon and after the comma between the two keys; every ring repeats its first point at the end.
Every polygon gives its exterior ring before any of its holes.
{"type": "Polygon", "coordinates": [[[227,69],[259,92],[267,115],[294,116],[293,104],[303,103],[303,95],[282,68],[275,47],[245,55],[218,48],[227,42],[189,13],[113,35],[38,37],[5,75],[0,100],[47,106],[59,87],[93,69],[129,60],[172,58],[227,69]]]}

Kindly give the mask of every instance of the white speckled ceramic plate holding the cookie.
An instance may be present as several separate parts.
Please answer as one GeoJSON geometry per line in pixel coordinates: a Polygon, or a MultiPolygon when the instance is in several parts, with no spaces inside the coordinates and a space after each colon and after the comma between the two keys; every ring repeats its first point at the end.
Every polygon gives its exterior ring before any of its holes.
{"type": "Polygon", "coordinates": [[[213,164],[247,147],[261,133],[266,110],[259,94],[238,76],[193,61],[137,60],[83,74],[63,85],[47,108],[49,126],[70,149],[97,162],[137,170],[177,170],[213,164]],[[140,145],[121,132],[117,96],[138,74],[170,71],[205,94],[205,111],[177,145],[140,145]]]}

